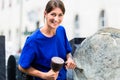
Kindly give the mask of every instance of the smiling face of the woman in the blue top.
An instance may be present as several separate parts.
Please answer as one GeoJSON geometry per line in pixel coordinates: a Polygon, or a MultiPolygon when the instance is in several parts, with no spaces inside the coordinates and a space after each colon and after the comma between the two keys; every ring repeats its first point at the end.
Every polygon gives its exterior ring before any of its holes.
{"type": "Polygon", "coordinates": [[[46,24],[48,25],[48,27],[55,29],[62,22],[64,14],[60,8],[54,8],[49,13],[45,12],[44,15],[45,15],[46,24]]]}

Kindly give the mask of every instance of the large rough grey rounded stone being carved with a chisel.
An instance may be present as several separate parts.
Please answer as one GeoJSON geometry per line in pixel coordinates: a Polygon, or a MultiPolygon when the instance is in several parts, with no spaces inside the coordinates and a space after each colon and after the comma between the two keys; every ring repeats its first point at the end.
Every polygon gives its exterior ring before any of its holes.
{"type": "Polygon", "coordinates": [[[120,80],[120,30],[103,28],[76,49],[74,80],[120,80]]]}

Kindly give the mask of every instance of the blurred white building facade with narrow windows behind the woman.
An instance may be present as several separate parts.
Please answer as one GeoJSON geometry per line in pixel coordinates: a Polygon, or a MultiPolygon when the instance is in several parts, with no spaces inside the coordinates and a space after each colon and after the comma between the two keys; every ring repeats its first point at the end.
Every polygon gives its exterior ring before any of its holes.
{"type": "MultiPolygon", "coordinates": [[[[120,0],[62,0],[66,13],[62,25],[69,40],[86,38],[104,27],[120,28],[120,0]]],[[[0,35],[5,36],[6,64],[20,55],[25,39],[44,25],[48,0],[0,0],[0,35]]]]}

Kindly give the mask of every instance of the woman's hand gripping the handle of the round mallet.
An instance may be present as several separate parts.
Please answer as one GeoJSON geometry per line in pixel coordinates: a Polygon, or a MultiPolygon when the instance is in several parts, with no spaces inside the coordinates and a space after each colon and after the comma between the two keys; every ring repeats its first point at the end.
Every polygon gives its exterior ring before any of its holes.
{"type": "Polygon", "coordinates": [[[58,77],[59,71],[58,72],[54,72],[52,69],[49,70],[47,73],[44,73],[43,78],[45,80],[56,80],[58,77]]]}

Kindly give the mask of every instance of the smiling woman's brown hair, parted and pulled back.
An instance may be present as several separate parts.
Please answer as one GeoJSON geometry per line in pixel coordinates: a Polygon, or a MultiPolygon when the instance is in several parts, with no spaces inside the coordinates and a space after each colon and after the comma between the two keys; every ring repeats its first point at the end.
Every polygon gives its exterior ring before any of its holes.
{"type": "Polygon", "coordinates": [[[63,14],[65,14],[65,7],[61,0],[50,0],[46,5],[45,11],[49,13],[56,7],[60,8],[63,14]]]}

